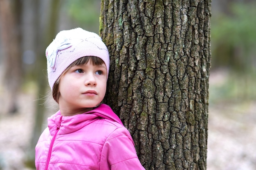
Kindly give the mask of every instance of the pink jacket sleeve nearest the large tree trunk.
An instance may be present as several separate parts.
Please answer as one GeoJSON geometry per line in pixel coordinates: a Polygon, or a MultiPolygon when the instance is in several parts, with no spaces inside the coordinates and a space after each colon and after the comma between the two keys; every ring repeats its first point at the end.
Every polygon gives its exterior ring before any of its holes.
{"type": "Polygon", "coordinates": [[[106,139],[101,152],[101,170],[145,170],[141,165],[129,131],[117,128],[106,139]]]}

